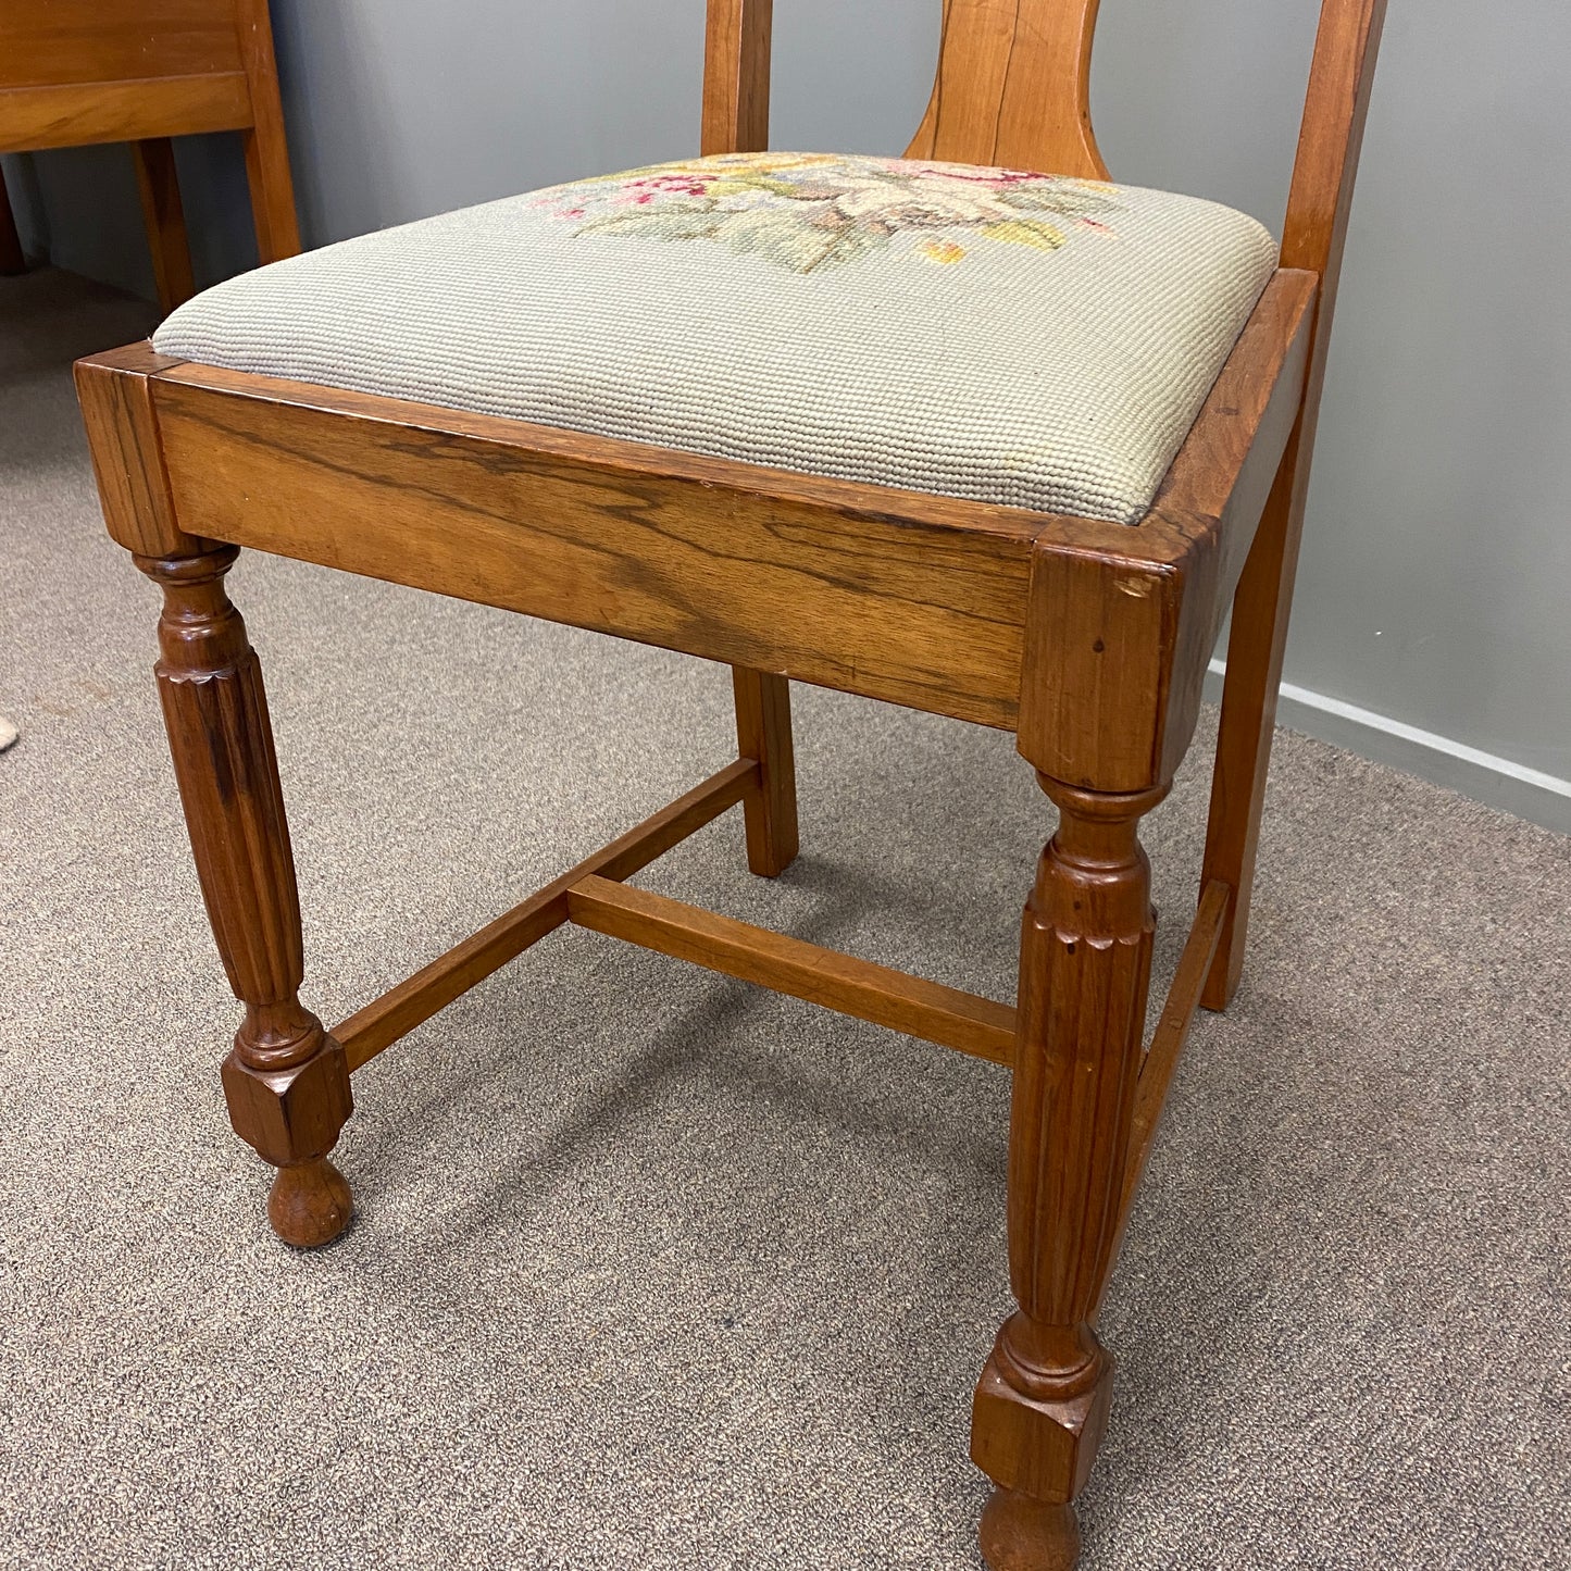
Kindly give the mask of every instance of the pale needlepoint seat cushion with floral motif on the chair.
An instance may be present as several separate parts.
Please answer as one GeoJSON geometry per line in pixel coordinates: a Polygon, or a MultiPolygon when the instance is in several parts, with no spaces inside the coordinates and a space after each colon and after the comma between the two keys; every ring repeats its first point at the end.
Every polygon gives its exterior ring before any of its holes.
{"type": "Polygon", "coordinates": [[[167,353],[1133,523],[1276,267],[1254,218],[1020,170],[734,154],[368,234],[167,353]]]}

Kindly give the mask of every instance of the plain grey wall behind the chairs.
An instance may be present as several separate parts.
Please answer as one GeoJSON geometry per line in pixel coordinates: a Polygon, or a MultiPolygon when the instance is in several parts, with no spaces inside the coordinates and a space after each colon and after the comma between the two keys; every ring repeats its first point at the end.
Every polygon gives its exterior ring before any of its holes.
{"type": "MultiPolygon", "coordinates": [[[[702,0],[273,8],[308,244],[696,145],[702,0]]],[[[899,151],[938,11],[778,0],[776,146],[899,151]]],[[[1104,0],[1095,110],[1114,173],[1279,228],[1315,16],[1316,0],[1104,0]]],[[[1309,729],[1551,822],[1565,807],[1571,826],[1571,795],[1502,793],[1499,771],[1458,775],[1313,701],[1571,778],[1566,60],[1563,0],[1392,5],[1288,680],[1310,690],[1291,709],[1309,729]]],[[[28,162],[33,242],[148,292],[124,149],[28,162]]],[[[182,170],[200,273],[247,265],[234,149],[196,140],[182,170]]]]}

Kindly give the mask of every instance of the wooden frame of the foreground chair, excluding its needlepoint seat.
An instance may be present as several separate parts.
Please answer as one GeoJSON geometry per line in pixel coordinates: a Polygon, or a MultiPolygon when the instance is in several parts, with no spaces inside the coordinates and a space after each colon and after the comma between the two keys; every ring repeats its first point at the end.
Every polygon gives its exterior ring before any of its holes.
{"type": "MultiPolygon", "coordinates": [[[[947,0],[938,83],[910,157],[1104,178],[1087,115],[1095,13],[1097,0],[947,0]]],[[[182,363],[148,344],[82,361],[110,534],[165,597],[157,676],[170,743],[214,932],[245,1004],[223,1081],[236,1131],[280,1169],[269,1214],[283,1238],[322,1244],[350,1216],[349,1188],[327,1159],[350,1114],[350,1075],[566,922],[1012,1067],[1009,1263],[1020,1307],[976,1392],[971,1453],[996,1483],[982,1546],[994,1571],[1075,1563],[1071,1502],[1111,1390],[1098,1304],[1191,1016],[1197,1004],[1229,1002],[1244,957],[1382,13],[1382,0],[1324,0],[1279,265],[1271,273],[1268,250],[1263,294],[1133,526],[435,407],[325,385],[325,374],[280,380],[182,363]],[[300,919],[273,740],[256,655],[223,591],[239,547],[727,663],[740,757],[325,1031],[298,999],[300,919]],[[1229,606],[1199,913],[1144,1051],[1155,913],[1137,826],[1189,746],[1229,606]],[[1016,735],[1060,815],[1026,905],[1016,1007],[625,883],[737,803],[751,869],[768,877],[792,861],[789,680],[1016,735]]],[[[768,55],[768,0],[710,0],[705,154],[765,146],[768,55]]],[[[649,179],[709,190],[712,167],[683,168],[649,179]]],[[[624,206],[644,201],[617,189],[624,206]]],[[[1095,192],[1070,196],[1073,206],[1095,192]]],[[[704,201],[677,212],[715,217],[704,201]]],[[[1007,225],[996,237],[1053,244],[1007,225]]],[[[888,228],[872,239],[881,244],[888,228]]],[[[943,239],[922,245],[935,264],[963,251],[943,239]]],[[[308,261],[262,275],[265,289],[286,289],[308,261]]]]}

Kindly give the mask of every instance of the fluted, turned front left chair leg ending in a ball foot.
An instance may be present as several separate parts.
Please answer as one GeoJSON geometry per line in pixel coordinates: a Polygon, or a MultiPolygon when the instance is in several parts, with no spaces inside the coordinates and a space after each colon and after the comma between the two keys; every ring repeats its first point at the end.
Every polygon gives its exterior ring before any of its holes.
{"type": "Polygon", "coordinates": [[[196,872],[245,1021],[223,1064],[236,1134],[278,1167],[273,1230],[302,1249],[349,1224],[349,1185],[327,1161],[353,1101],[344,1049],[298,998],[300,899],[262,674],[223,591],[239,551],[146,558],[163,589],[159,696],[196,872]]]}

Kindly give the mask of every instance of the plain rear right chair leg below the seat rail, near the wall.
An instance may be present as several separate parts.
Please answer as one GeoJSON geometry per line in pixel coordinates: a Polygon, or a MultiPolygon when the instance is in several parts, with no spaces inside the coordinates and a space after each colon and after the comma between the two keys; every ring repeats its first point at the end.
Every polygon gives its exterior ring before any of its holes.
{"type": "Polygon", "coordinates": [[[1298,547],[1304,533],[1299,484],[1299,437],[1295,430],[1282,456],[1255,544],[1251,547],[1227,638],[1227,682],[1222,688],[1222,726],[1211,776],[1211,817],[1205,831],[1203,889],[1221,878],[1233,891],[1216,960],[1200,1002],[1227,1009],[1244,969],[1249,936],[1249,899],[1255,883],[1260,815],[1271,768],[1277,688],[1287,652],[1287,624],[1298,575],[1298,547]]]}

